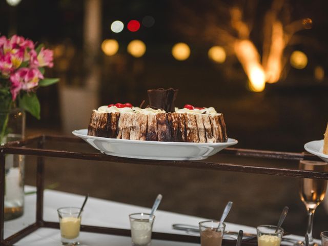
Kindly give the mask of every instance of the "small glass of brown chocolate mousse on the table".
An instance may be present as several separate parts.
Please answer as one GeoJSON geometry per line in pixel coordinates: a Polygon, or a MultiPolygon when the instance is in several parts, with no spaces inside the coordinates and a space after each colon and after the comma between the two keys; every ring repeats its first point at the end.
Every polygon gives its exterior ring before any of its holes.
{"type": "Polygon", "coordinates": [[[220,221],[206,220],[199,222],[200,245],[201,246],[221,246],[226,224],[222,223],[217,230],[220,221]]]}

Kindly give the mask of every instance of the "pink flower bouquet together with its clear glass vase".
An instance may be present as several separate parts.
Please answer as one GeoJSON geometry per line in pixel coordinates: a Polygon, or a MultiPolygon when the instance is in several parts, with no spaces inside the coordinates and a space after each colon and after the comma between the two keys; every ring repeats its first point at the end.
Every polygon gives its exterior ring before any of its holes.
{"type": "MultiPolygon", "coordinates": [[[[45,67],[53,67],[53,52],[31,40],[0,36],[0,145],[24,137],[25,111],[40,118],[36,89],[57,78],[45,78],[45,67]]],[[[24,213],[24,156],[6,155],[5,220],[24,213]]]]}

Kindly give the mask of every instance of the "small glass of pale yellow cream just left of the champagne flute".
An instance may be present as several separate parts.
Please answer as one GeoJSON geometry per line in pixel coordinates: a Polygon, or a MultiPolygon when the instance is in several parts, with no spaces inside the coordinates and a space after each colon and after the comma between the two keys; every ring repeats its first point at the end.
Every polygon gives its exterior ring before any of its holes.
{"type": "Polygon", "coordinates": [[[263,225],[256,228],[258,246],[280,246],[283,229],[276,232],[276,226],[263,225]]]}

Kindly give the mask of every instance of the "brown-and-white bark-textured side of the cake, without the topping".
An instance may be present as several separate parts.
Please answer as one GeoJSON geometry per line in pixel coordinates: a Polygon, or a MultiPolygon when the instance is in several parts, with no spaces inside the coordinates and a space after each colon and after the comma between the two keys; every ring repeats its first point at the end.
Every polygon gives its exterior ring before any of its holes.
{"type": "Polygon", "coordinates": [[[88,135],[130,140],[226,142],[222,114],[99,112],[90,118],[88,135]]]}

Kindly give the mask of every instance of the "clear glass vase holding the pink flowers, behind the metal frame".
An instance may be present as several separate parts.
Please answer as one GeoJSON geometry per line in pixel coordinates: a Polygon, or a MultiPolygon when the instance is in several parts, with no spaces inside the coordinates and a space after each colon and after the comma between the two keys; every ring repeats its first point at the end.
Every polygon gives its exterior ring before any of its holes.
{"type": "MultiPolygon", "coordinates": [[[[14,108],[0,109],[0,144],[21,140],[25,135],[25,112],[14,108]]],[[[6,155],[5,220],[18,218],[24,213],[24,155],[6,155]]]]}

